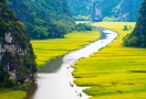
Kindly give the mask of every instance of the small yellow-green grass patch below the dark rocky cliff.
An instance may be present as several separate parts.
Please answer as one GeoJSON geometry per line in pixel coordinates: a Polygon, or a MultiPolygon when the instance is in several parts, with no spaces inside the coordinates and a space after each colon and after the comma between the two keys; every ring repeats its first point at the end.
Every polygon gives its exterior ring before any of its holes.
{"type": "Polygon", "coordinates": [[[25,92],[21,90],[0,90],[0,99],[24,99],[25,92]]]}

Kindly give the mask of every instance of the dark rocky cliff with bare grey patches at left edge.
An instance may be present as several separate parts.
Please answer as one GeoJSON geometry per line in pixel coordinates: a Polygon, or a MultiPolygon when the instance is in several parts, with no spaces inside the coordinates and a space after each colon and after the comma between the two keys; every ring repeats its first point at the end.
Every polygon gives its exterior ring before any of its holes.
{"type": "Polygon", "coordinates": [[[35,55],[23,23],[8,9],[7,0],[0,1],[0,87],[12,80],[24,82],[36,72],[35,55]],[[12,80],[11,80],[12,79],[12,80]]]}

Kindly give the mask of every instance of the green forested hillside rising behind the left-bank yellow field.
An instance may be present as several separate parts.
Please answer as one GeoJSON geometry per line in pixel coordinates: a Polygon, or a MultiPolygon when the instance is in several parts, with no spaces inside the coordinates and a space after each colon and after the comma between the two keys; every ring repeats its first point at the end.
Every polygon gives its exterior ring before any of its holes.
{"type": "Polygon", "coordinates": [[[32,38],[63,37],[75,24],[66,0],[9,0],[32,38]]]}

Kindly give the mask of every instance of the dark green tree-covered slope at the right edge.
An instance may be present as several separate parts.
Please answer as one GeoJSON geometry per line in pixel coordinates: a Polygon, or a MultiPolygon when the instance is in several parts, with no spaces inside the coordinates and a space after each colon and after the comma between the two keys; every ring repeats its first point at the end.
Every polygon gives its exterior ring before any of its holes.
{"type": "Polygon", "coordinates": [[[140,16],[136,23],[134,31],[124,37],[125,46],[146,47],[146,0],[143,1],[139,12],[140,16]]]}

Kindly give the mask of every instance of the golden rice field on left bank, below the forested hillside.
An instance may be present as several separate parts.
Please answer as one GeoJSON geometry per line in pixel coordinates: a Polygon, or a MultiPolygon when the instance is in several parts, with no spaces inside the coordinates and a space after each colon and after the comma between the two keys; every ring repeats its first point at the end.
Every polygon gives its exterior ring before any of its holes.
{"type": "Polygon", "coordinates": [[[83,47],[100,37],[100,32],[73,32],[65,35],[65,38],[49,38],[31,41],[36,63],[39,66],[46,62],[62,56],[71,51],[83,47]]]}

